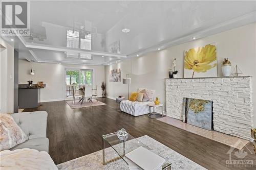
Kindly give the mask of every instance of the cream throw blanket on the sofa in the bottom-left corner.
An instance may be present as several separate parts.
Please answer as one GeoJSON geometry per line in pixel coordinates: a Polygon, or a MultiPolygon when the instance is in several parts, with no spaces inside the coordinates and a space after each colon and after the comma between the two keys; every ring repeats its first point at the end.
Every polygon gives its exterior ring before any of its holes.
{"type": "Polygon", "coordinates": [[[58,169],[45,151],[33,149],[5,150],[0,152],[0,169],[58,169]]]}

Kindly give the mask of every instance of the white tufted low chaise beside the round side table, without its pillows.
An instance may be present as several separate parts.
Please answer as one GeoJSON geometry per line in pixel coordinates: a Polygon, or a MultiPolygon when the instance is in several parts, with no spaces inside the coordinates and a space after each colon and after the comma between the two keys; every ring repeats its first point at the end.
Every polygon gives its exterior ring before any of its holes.
{"type": "MultiPolygon", "coordinates": [[[[133,116],[140,116],[150,113],[150,107],[147,106],[148,103],[152,102],[132,102],[125,100],[120,103],[120,109],[122,112],[131,114],[133,116]]],[[[153,109],[151,109],[151,113],[153,113],[153,109]]]]}

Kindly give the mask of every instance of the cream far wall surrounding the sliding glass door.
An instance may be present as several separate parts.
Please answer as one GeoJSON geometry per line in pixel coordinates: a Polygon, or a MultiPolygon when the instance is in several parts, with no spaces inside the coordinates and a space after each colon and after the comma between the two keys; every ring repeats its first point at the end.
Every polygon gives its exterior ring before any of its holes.
{"type": "Polygon", "coordinates": [[[104,81],[104,66],[83,66],[52,63],[30,63],[26,60],[19,60],[19,84],[27,84],[43,81],[46,88],[41,89],[41,102],[58,101],[66,98],[65,94],[65,70],[66,69],[93,69],[93,86],[98,85],[97,93],[101,96],[101,82],[104,81]],[[29,74],[33,67],[35,75],[29,74]]]}

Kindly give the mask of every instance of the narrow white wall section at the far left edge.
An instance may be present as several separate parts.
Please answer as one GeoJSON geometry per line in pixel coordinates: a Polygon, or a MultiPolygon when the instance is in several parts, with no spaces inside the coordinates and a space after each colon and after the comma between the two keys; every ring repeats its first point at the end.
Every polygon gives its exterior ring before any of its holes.
{"type": "Polygon", "coordinates": [[[0,111],[3,113],[13,113],[13,91],[14,91],[14,48],[0,37],[0,111]]]}

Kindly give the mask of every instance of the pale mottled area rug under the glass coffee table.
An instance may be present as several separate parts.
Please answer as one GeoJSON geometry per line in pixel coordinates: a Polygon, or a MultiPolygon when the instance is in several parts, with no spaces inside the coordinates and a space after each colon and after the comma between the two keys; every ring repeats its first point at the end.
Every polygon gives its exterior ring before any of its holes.
{"type": "MultiPolygon", "coordinates": [[[[174,150],[166,147],[164,144],[157,140],[145,135],[139,137],[142,143],[152,149],[161,157],[165,158],[172,163],[173,169],[205,169],[203,166],[191,161],[190,159],[182,156],[174,150]]],[[[110,159],[115,155],[115,151],[112,148],[105,149],[106,159],[110,159]]],[[[82,156],[57,165],[58,169],[129,169],[129,166],[119,159],[107,165],[102,165],[102,150],[94,152],[92,154],[82,156]]]]}

